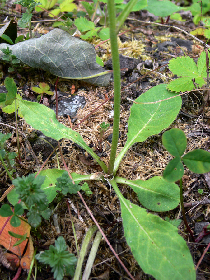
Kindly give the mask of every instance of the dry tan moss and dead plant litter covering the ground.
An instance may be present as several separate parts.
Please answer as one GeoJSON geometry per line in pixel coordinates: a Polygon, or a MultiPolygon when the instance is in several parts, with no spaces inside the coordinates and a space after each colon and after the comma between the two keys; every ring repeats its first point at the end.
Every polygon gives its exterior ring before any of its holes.
{"type": "MultiPolygon", "coordinates": [[[[138,18],[142,17],[143,20],[152,20],[148,18],[143,13],[139,13],[138,18]]],[[[183,23],[182,23],[183,24],[183,23]]],[[[126,26],[124,26],[124,30],[130,29],[133,27],[137,27],[137,23],[135,21],[127,21],[126,26]]],[[[188,25],[182,26],[185,30],[189,30],[194,28],[194,24],[189,21],[188,25]]],[[[38,28],[38,27],[37,27],[38,28]]],[[[44,27],[44,30],[49,30],[48,26],[44,27]]],[[[44,31],[43,31],[44,32],[44,31]]],[[[167,51],[161,51],[156,47],[158,43],[163,43],[165,41],[171,41],[171,37],[180,38],[182,40],[190,40],[192,44],[192,48],[188,50],[183,47],[182,49],[195,60],[198,58],[200,50],[195,47],[197,42],[191,40],[191,38],[186,38],[186,35],[182,35],[180,32],[178,33],[173,28],[164,28],[164,27],[154,27],[154,26],[140,26],[139,28],[134,29],[133,31],[128,31],[123,35],[119,36],[119,53],[139,60],[139,63],[142,63],[142,67],[134,68],[133,70],[122,72],[122,88],[128,86],[131,82],[134,82],[138,77],[142,77],[142,75],[154,70],[156,67],[160,66],[161,63],[170,60],[173,57],[183,55],[183,50],[177,47],[167,47],[167,51]],[[147,63],[145,65],[145,60],[151,60],[150,65],[147,63]],[[149,67],[149,68],[147,68],[149,67]]],[[[94,45],[100,43],[99,40],[92,40],[91,42],[94,45]]],[[[201,44],[200,44],[201,45],[201,44]]],[[[201,45],[202,46],[202,45],[201,45]]],[[[106,62],[111,58],[110,54],[110,43],[106,42],[100,45],[98,54],[103,58],[106,62]]],[[[138,63],[138,64],[139,64],[138,63]]],[[[163,63],[164,64],[164,63],[163,63]]],[[[3,66],[3,70],[6,72],[6,66],[3,66]]],[[[55,84],[56,78],[48,73],[40,72],[39,70],[33,69],[27,70],[23,68],[21,71],[22,78],[18,81],[18,85],[20,89],[27,85],[28,87],[32,87],[38,82],[46,82],[51,85],[55,84]]],[[[128,118],[130,114],[130,107],[132,103],[126,99],[126,97],[135,99],[140,94],[151,88],[152,86],[156,86],[159,83],[167,83],[173,79],[171,72],[167,67],[162,68],[162,70],[157,70],[149,73],[146,77],[137,82],[134,82],[132,85],[129,85],[124,91],[122,91],[122,100],[121,100],[121,115],[120,115],[120,134],[119,134],[119,145],[118,145],[118,153],[124,147],[126,142],[126,133],[127,133],[127,125],[128,118]]],[[[79,123],[80,120],[86,117],[87,114],[91,113],[94,109],[96,109],[102,102],[104,102],[106,96],[110,97],[113,94],[113,82],[110,82],[109,86],[105,88],[98,88],[95,86],[90,86],[85,84],[84,82],[76,82],[76,81],[68,81],[64,79],[60,79],[58,82],[58,90],[63,93],[65,96],[71,96],[70,88],[72,84],[75,85],[77,91],[75,94],[79,96],[83,96],[86,99],[86,105],[84,108],[79,109],[77,111],[77,116],[72,119],[73,127],[79,123]]],[[[2,79],[3,85],[3,79],[2,79]]],[[[210,112],[209,108],[205,108],[202,116],[197,116],[197,112],[201,106],[201,101],[199,100],[199,96],[196,94],[189,94],[187,96],[182,97],[183,104],[180,114],[177,116],[174,123],[170,126],[170,128],[180,128],[184,131],[188,138],[188,147],[187,151],[201,148],[209,151],[209,118],[210,112]]],[[[111,99],[104,105],[102,105],[98,110],[96,110],[90,117],[82,122],[77,128],[76,131],[80,133],[87,143],[91,147],[99,148],[99,124],[102,122],[110,123],[110,128],[105,132],[103,143],[102,143],[102,152],[98,152],[98,155],[105,162],[106,165],[109,164],[109,155],[110,155],[110,147],[111,144],[107,140],[108,136],[112,134],[112,125],[113,125],[113,100],[111,99]]],[[[59,117],[59,121],[66,126],[70,127],[67,118],[59,117]]],[[[2,122],[4,124],[8,124],[12,127],[15,127],[15,118],[14,115],[6,115],[2,114],[2,122]]],[[[18,121],[19,130],[23,133],[31,133],[33,132],[33,128],[31,128],[28,124],[26,124],[22,119],[18,121]]],[[[14,133],[15,131],[7,126],[1,125],[2,133],[14,133]]],[[[170,161],[169,153],[164,149],[161,144],[161,134],[149,137],[146,141],[142,143],[137,143],[133,145],[126,155],[124,156],[117,175],[135,180],[147,180],[152,176],[161,176],[164,168],[167,163],[170,161]]],[[[23,138],[23,144],[25,140],[23,138]]],[[[10,143],[8,142],[8,146],[10,143]]],[[[67,163],[68,169],[70,172],[76,172],[79,174],[87,174],[87,173],[97,173],[100,172],[100,168],[92,167],[86,165],[86,162],[83,160],[78,160],[77,155],[82,154],[84,151],[80,150],[74,143],[71,143],[68,140],[64,140],[62,145],[62,151],[64,159],[67,163]]],[[[17,152],[16,146],[9,147],[9,151],[17,152]]],[[[17,163],[16,166],[16,175],[17,176],[26,176],[29,173],[34,173],[39,170],[42,162],[43,162],[43,154],[42,151],[36,154],[38,162],[31,157],[29,153],[26,153],[26,157],[24,155],[24,149],[21,147],[22,158],[25,166],[20,166],[17,163]],[[26,158],[26,161],[24,160],[26,158]]],[[[85,152],[84,155],[88,158],[88,154],[85,152]]],[[[59,162],[61,168],[64,169],[60,154],[58,152],[59,162]]],[[[58,168],[57,160],[55,156],[52,156],[49,161],[46,163],[44,169],[47,168],[58,168]]],[[[1,190],[3,193],[8,186],[11,185],[9,178],[4,172],[3,167],[0,167],[0,183],[1,190]]],[[[184,175],[184,202],[188,203],[189,207],[186,207],[187,219],[189,222],[189,226],[192,231],[194,231],[194,226],[196,222],[210,222],[209,212],[210,205],[198,205],[193,207],[193,203],[198,203],[200,200],[205,200],[208,198],[210,194],[210,175],[198,175],[192,174],[188,169],[185,170],[184,175]],[[203,194],[198,193],[198,189],[203,189],[203,194]]],[[[93,194],[90,197],[84,195],[85,201],[88,207],[91,209],[91,212],[96,217],[99,225],[104,229],[107,238],[110,243],[116,250],[118,254],[120,254],[120,258],[128,268],[128,270],[132,273],[135,279],[137,280],[149,280],[153,279],[151,276],[145,275],[135,259],[133,258],[130,249],[126,243],[124,238],[124,231],[122,227],[122,219],[121,219],[121,211],[119,206],[119,200],[114,193],[114,190],[111,189],[109,185],[100,181],[89,181],[89,186],[93,194]]],[[[138,204],[136,193],[130,189],[127,185],[119,186],[125,198],[131,200],[132,203],[138,204]]],[[[82,241],[84,239],[84,235],[87,229],[92,226],[94,223],[91,220],[89,214],[86,212],[86,209],[77,195],[71,195],[68,199],[71,200],[71,209],[72,209],[72,217],[74,221],[74,226],[76,229],[77,242],[79,249],[81,248],[82,241]],[[76,213],[72,207],[75,207],[79,213],[76,213]]],[[[6,202],[6,200],[5,200],[6,202]]],[[[185,204],[186,205],[186,204],[185,204]]],[[[60,234],[64,236],[68,250],[71,253],[76,254],[76,246],[75,240],[72,232],[72,225],[70,221],[70,217],[67,210],[67,205],[65,200],[58,201],[54,200],[51,205],[53,208],[56,207],[54,214],[58,217],[58,228],[60,230],[60,234]]],[[[160,215],[162,218],[165,218],[167,215],[171,219],[175,219],[178,215],[179,207],[171,210],[167,213],[155,213],[160,215]]],[[[153,212],[154,214],[154,212],[153,212]]],[[[48,248],[50,244],[54,243],[54,240],[58,236],[58,228],[56,228],[53,219],[49,221],[42,221],[40,226],[40,230],[43,233],[44,238],[38,234],[38,241],[42,248],[48,248]]],[[[191,243],[188,232],[184,227],[184,222],[179,226],[180,235],[187,241],[187,244],[191,250],[194,262],[197,263],[199,257],[203,253],[203,245],[197,244],[193,245],[191,243]]],[[[31,232],[34,241],[37,241],[35,232],[31,232]]],[[[87,258],[86,258],[87,259],[87,258]]],[[[85,259],[85,263],[86,263],[85,259]]],[[[203,259],[203,262],[198,269],[198,279],[205,280],[210,278],[210,267],[208,265],[209,257],[203,259]]],[[[9,279],[14,275],[13,272],[6,270],[6,268],[0,267],[0,278],[1,279],[9,279]]],[[[26,279],[26,273],[21,274],[21,278],[26,279]]],[[[38,265],[38,280],[46,280],[53,279],[52,273],[50,273],[50,269],[47,266],[38,265]]],[[[70,279],[65,277],[64,279],[70,279]]],[[[113,257],[108,245],[102,239],[100,242],[100,246],[98,252],[96,254],[96,259],[94,261],[94,265],[91,272],[90,279],[128,279],[122,268],[120,267],[118,261],[113,257]]],[[[180,279],[181,280],[181,279],[180,279]]]]}

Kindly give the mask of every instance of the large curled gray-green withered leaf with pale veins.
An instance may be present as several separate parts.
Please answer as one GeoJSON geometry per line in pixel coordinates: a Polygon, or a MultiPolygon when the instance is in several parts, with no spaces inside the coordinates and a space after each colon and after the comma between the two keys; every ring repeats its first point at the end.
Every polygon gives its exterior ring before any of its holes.
{"type": "MultiPolygon", "coordinates": [[[[96,63],[93,45],[72,37],[68,32],[55,28],[40,38],[29,39],[13,46],[0,44],[0,49],[9,48],[24,64],[42,68],[53,75],[66,79],[78,79],[106,86],[110,73],[96,63]],[[94,76],[94,77],[93,77],[94,76]]],[[[4,54],[0,51],[0,59],[4,54]]]]}

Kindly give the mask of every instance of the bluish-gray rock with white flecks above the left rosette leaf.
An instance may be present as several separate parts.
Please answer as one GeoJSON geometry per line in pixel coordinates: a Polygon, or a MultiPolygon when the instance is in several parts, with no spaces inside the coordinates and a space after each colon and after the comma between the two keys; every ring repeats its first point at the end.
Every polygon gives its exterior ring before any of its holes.
{"type": "MultiPolygon", "coordinates": [[[[82,96],[71,96],[58,101],[58,116],[71,118],[75,117],[79,108],[84,108],[86,104],[85,98],[82,96]]],[[[51,106],[54,111],[55,106],[51,106]]]]}

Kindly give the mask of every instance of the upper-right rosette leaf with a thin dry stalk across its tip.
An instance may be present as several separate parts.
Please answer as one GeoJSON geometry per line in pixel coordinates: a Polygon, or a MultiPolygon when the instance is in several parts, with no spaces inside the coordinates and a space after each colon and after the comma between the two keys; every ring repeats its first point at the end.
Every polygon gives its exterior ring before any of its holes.
{"type": "MultiPolygon", "coordinates": [[[[135,101],[154,102],[175,96],[175,93],[168,91],[166,86],[165,84],[154,86],[139,96],[135,101]]],[[[147,137],[158,134],[163,129],[169,127],[175,120],[180,109],[180,96],[154,104],[134,103],[131,107],[131,114],[128,120],[128,139],[115,160],[114,174],[117,171],[122,157],[131,145],[138,141],[142,142],[147,137]]]]}

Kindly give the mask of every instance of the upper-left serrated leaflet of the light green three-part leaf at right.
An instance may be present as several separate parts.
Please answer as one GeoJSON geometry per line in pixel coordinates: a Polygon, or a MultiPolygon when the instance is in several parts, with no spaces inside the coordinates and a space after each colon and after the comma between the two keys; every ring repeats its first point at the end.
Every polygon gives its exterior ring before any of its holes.
{"type": "Polygon", "coordinates": [[[182,56],[169,61],[168,68],[174,75],[180,77],[199,77],[198,68],[192,58],[182,56]]]}

